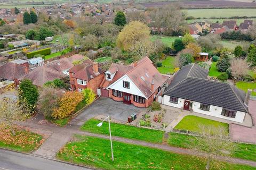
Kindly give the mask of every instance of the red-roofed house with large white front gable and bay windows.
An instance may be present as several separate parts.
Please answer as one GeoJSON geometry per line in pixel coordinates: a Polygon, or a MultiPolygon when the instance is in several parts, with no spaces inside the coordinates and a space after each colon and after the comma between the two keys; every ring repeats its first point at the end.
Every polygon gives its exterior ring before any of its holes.
{"type": "Polygon", "coordinates": [[[148,107],[162,94],[168,80],[169,77],[159,73],[148,57],[129,66],[112,63],[105,72],[100,93],[124,104],[148,107]]]}

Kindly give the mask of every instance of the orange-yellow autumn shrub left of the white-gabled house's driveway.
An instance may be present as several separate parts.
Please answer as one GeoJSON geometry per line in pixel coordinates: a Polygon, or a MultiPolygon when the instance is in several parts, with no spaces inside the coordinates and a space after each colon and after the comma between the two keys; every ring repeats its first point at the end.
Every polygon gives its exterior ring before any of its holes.
{"type": "Polygon", "coordinates": [[[55,108],[52,113],[54,118],[65,118],[71,116],[76,106],[83,100],[83,95],[79,92],[68,91],[59,99],[59,107],[55,108]]]}

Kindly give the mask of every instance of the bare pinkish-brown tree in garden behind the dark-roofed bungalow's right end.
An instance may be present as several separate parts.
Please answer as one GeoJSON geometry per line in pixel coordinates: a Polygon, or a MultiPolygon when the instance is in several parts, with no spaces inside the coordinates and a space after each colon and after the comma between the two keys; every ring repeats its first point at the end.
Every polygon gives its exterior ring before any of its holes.
{"type": "Polygon", "coordinates": [[[231,73],[233,77],[238,79],[246,75],[250,68],[250,63],[246,62],[246,60],[243,60],[241,58],[233,58],[230,64],[231,64],[231,67],[230,67],[231,73]]]}

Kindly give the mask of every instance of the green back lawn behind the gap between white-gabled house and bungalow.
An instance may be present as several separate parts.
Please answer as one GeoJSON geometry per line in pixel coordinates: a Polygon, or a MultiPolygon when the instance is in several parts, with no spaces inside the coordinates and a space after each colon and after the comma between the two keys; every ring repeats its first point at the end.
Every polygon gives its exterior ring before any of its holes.
{"type": "Polygon", "coordinates": [[[157,67],[157,70],[162,74],[173,74],[174,73],[174,61],[175,57],[167,56],[165,60],[162,61],[162,67],[157,67]]]}

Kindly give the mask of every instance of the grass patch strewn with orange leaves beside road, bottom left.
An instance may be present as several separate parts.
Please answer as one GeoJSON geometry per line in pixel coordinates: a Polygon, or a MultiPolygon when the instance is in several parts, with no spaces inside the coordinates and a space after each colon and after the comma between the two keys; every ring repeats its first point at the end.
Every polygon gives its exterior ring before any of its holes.
{"type": "Polygon", "coordinates": [[[1,148],[31,152],[42,144],[41,140],[43,138],[39,134],[14,128],[16,135],[13,136],[8,128],[1,127],[0,130],[1,148]]]}

